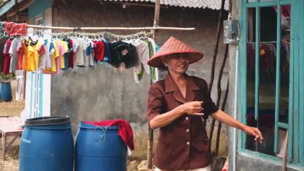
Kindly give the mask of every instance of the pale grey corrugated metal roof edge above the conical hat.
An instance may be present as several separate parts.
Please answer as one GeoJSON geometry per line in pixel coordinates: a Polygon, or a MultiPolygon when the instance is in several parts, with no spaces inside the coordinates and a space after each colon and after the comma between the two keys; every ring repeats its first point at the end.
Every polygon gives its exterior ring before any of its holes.
{"type": "MultiPolygon", "coordinates": [[[[130,2],[152,2],[155,0],[104,0],[104,1],[130,1],[130,2]]],[[[220,9],[221,0],[160,0],[161,5],[220,9]]],[[[228,10],[228,0],[225,0],[225,10],[228,10]]]]}

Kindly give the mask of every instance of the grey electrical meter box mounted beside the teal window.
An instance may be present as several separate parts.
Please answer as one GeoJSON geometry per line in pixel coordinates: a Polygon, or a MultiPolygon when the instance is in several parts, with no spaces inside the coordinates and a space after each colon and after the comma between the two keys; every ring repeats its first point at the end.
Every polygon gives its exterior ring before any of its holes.
{"type": "Polygon", "coordinates": [[[224,43],[237,43],[237,20],[224,20],[224,43]]]}

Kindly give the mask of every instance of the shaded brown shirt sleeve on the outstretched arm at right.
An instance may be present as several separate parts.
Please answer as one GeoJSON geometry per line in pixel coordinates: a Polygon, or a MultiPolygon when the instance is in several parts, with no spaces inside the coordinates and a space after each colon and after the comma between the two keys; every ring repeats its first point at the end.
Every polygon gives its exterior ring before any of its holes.
{"type": "Polygon", "coordinates": [[[216,105],[214,104],[214,102],[212,101],[209,93],[208,93],[208,85],[207,82],[205,80],[203,80],[203,88],[204,92],[204,100],[203,100],[203,118],[206,119],[208,118],[208,116],[212,113],[215,113],[218,108],[216,107],[216,105]]]}

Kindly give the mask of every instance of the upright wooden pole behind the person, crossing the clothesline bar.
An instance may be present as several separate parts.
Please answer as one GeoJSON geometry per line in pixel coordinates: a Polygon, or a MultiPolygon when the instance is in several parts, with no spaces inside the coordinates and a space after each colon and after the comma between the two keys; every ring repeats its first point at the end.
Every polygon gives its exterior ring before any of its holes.
{"type": "MultiPolygon", "coordinates": [[[[155,9],[154,9],[154,23],[153,27],[158,27],[159,25],[159,8],[160,0],[155,0],[155,9]]],[[[157,41],[157,29],[153,30],[153,39],[157,41]]],[[[150,85],[152,84],[152,79],[150,79],[150,85]]],[[[147,165],[148,169],[152,168],[152,158],[153,158],[153,129],[148,126],[148,149],[147,149],[147,165]]]]}

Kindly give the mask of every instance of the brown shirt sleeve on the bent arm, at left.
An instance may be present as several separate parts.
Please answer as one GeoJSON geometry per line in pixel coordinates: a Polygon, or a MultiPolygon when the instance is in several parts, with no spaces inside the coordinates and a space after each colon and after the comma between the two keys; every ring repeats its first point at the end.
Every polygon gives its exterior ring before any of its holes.
{"type": "Polygon", "coordinates": [[[146,114],[148,121],[163,112],[164,97],[160,89],[151,86],[148,91],[146,114]]]}

